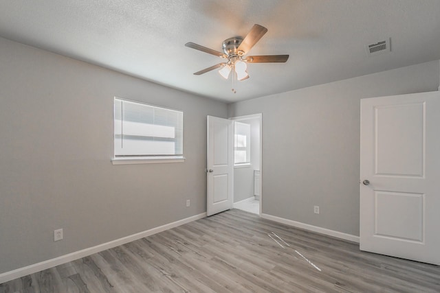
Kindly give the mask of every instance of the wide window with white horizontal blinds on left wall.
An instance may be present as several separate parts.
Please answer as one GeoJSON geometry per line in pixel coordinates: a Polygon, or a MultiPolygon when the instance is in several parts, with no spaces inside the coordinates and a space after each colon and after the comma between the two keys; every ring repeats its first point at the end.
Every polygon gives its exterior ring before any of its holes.
{"type": "Polygon", "coordinates": [[[115,97],[115,159],[183,159],[184,113],[115,97]]]}

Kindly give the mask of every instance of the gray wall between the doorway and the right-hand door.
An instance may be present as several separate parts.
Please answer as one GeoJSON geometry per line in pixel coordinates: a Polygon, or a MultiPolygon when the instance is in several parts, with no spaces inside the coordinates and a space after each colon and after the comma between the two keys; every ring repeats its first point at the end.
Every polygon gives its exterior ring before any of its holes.
{"type": "Polygon", "coordinates": [[[360,99],[438,86],[434,61],[230,104],[263,113],[262,212],[359,235],[360,99]]]}

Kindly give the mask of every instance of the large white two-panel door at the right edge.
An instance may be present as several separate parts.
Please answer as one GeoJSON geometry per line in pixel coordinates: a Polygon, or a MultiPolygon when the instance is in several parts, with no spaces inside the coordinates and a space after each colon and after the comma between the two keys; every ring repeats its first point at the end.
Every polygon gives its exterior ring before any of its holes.
{"type": "Polygon", "coordinates": [[[360,249],[440,265],[440,92],[361,100],[360,249]]]}

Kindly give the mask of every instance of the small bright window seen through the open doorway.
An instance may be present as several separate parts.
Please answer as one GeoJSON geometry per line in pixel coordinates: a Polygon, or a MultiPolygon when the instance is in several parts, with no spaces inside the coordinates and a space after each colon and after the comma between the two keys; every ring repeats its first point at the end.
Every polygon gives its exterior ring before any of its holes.
{"type": "Polygon", "coordinates": [[[250,124],[234,124],[234,164],[250,164],[250,124]]]}

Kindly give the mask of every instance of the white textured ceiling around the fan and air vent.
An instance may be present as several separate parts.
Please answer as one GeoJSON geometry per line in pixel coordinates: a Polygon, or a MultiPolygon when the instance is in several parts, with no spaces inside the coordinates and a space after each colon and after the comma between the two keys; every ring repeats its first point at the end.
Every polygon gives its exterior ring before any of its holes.
{"type": "MultiPolygon", "coordinates": [[[[235,102],[440,59],[439,0],[1,0],[0,36],[198,95],[235,102]],[[251,55],[289,54],[250,64],[236,83],[192,73],[258,23],[268,32],[251,55]],[[391,52],[365,45],[391,38],[391,52]]],[[[0,48],[1,49],[1,48],[0,48]]]]}

